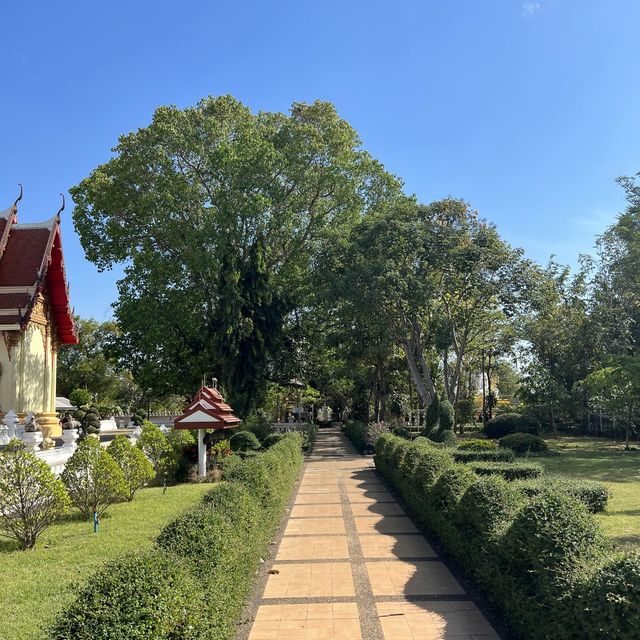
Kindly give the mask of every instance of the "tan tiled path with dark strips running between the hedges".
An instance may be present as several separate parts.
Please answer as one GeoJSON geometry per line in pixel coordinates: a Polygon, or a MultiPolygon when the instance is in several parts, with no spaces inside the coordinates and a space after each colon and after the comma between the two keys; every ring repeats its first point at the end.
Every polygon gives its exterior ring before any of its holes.
{"type": "Polygon", "coordinates": [[[322,429],[249,640],[499,640],[375,473],[322,429]]]}

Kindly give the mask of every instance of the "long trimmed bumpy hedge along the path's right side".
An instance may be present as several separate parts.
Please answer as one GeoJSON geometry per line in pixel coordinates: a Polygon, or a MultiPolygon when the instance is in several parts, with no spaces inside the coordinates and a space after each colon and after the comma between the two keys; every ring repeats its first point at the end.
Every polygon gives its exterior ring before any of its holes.
{"type": "Polygon", "coordinates": [[[478,476],[474,466],[532,465],[456,464],[447,451],[406,441],[400,450],[397,440],[378,440],[376,467],[488,593],[515,637],[637,638],[640,555],[605,559],[599,524],[569,494],[569,479],[478,476]]]}

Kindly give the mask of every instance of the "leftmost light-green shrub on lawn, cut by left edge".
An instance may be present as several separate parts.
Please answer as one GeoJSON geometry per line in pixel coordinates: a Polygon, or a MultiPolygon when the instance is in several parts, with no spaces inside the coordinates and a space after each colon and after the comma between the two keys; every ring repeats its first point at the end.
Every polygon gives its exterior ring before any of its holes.
{"type": "Polygon", "coordinates": [[[16,439],[0,451],[0,535],[33,549],[38,536],[70,506],[49,465],[16,439]]]}

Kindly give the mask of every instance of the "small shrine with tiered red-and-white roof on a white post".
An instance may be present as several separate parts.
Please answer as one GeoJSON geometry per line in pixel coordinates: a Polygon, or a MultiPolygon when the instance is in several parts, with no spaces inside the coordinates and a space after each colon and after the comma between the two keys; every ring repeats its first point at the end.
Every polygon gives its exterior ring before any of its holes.
{"type": "Polygon", "coordinates": [[[216,383],[214,386],[203,386],[187,405],[183,414],[178,416],[173,426],[175,429],[196,429],[198,431],[198,474],[207,475],[207,445],[205,434],[209,430],[220,432],[230,432],[241,422],[240,418],[233,415],[233,409],[224,401],[222,394],[218,391],[216,383]]]}

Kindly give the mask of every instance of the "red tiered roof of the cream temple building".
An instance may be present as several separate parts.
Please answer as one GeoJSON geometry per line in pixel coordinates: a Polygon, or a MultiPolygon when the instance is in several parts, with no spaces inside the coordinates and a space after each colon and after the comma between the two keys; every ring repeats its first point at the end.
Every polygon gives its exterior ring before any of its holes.
{"type": "Polygon", "coordinates": [[[58,340],[77,344],[64,270],[60,217],[19,224],[17,206],[0,213],[0,327],[26,328],[38,294],[47,297],[58,340]]]}

